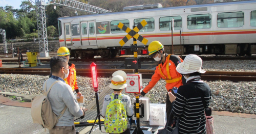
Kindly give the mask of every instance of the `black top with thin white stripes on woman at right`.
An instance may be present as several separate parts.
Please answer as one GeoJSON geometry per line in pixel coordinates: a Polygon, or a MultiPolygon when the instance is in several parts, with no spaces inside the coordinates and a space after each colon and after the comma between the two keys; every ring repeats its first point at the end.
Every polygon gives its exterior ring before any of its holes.
{"type": "Polygon", "coordinates": [[[211,98],[210,87],[205,83],[193,82],[180,86],[173,106],[173,114],[180,117],[180,133],[206,133],[204,106],[201,98],[204,95],[206,105],[211,98]],[[194,88],[197,87],[197,90],[194,88]],[[198,93],[198,92],[202,93],[198,93]]]}

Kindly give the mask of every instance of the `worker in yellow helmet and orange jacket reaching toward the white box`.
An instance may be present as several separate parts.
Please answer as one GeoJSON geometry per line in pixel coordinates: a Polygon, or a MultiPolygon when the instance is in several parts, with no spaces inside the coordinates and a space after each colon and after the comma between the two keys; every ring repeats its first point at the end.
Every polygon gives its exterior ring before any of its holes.
{"type": "Polygon", "coordinates": [[[166,93],[166,117],[169,119],[170,112],[172,111],[172,102],[169,100],[168,91],[172,90],[174,87],[180,87],[182,82],[185,84],[185,78],[177,72],[176,67],[183,60],[176,55],[168,55],[164,52],[162,43],[159,41],[153,41],[148,45],[148,56],[158,61],[158,66],[156,67],[155,73],[153,74],[151,81],[139,94],[134,94],[135,96],[145,95],[150,91],[159,81],[160,78],[165,79],[167,90],[166,93]],[[183,81],[182,81],[183,80],[183,81]]]}

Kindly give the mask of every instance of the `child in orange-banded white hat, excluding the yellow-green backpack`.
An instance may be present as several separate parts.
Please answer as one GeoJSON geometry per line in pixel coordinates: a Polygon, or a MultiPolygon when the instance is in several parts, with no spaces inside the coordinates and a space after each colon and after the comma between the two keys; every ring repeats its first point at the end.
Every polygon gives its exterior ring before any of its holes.
{"type": "MultiPolygon", "coordinates": [[[[113,77],[111,79],[110,88],[114,92],[112,94],[108,94],[104,97],[103,106],[102,106],[102,116],[105,117],[105,115],[108,115],[108,113],[107,113],[108,111],[106,111],[106,109],[107,109],[108,104],[112,101],[112,98],[113,99],[118,98],[123,103],[123,106],[126,110],[127,117],[131,118],[133,116],[133,108],[131,106],[131,98],[127,95],[122,94],[123,89],[127,87],[127,84],[126,84],[127,75],[124,71],[119,70],[119,71],[114,72],[112,74],[112,76],[113,77]],[[112,96],[112,98],[111,98],[111,96],[112,96]]],[[[113,133],[115,133],[115,132],[113,132],[113,133]]],[[[130,128],[127,127],[127,129],[121,133],[123,133],[123,134],[129,133],[130,134],[130,128]]]]}

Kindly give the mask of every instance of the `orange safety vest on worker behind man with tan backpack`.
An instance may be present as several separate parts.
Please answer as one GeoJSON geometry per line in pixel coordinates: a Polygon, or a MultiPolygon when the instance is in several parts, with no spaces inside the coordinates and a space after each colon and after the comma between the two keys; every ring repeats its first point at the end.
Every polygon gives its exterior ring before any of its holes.
{"type": "Polygon", "coordinates": [[[76,81],[76,68],[74,64],[69,66],[69,76],[65,78],[64,81],[72,88],[72,91],[78,89],[76,81]]]}

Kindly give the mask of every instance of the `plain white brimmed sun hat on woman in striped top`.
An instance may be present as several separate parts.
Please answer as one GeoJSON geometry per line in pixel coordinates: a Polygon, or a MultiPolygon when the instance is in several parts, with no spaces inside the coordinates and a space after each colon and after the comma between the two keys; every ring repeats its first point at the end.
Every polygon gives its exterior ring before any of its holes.
{"type": "Polygon", "coordinates": [[[193,72],[205,73],[202,70],[203,61],[197,55],[188,55],[184,61],[176,67],[176,70],[181,74],[188,74],[193,72]]]}

